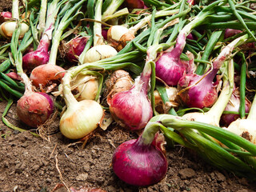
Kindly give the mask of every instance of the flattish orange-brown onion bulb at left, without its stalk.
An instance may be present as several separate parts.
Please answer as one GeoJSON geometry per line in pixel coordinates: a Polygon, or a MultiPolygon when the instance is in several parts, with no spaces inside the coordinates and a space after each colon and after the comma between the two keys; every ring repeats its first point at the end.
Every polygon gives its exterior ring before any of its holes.
{"type": "Polygon", "coordinates": [[[36,87],[47,86],[51,82],[61,82],[65,75],[65,70],[61,66],[44,64],[37,66],[30,74],[30,80],[36,87]]]}

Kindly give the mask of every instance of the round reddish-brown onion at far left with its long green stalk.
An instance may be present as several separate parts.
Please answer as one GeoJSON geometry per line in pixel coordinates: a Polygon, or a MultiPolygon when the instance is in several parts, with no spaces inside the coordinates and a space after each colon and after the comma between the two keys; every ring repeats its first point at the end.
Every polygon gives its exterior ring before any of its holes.
{"type": "Polygon", "coordinates": [[[14,31],[11,52],[18,75],[25,84],[25,92],[17,102],[18,118],[27,126],[37,128],[46,122],[54,113],[54,101],[48,94],[34,92],[30,78],[22,69],[22,52],[18,50],[18,37],[21,26],[14,31]]]}

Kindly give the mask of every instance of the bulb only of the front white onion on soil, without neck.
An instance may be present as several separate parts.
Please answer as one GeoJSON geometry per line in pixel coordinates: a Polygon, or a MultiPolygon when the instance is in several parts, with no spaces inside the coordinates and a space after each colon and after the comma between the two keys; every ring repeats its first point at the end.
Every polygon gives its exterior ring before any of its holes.
{"type": "Polygon", "coordinates": [[[98,102],[82,100],[66,109],[59,128],[66,138],[83,138],[98,127],[103,114],[102,106],[98,102]]]}

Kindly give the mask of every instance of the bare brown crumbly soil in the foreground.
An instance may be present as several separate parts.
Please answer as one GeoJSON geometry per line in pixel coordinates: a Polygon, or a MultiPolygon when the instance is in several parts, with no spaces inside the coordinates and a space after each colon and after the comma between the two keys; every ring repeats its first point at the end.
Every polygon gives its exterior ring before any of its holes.
{"type": "MultiPolygon", "coordinates": [[[[0,11],[10,10],[11,1],[0,2],[0,11]]],[[[0,102],[0,114],[6,102],[0,102]]],[[[6,115],[15,126],[28,129],[18,120],[15,104],[6,115]]],[[[118,126],[98,129],[86,146],[72,141],[58,130],[58,118],[45,127],[50,134],[42,139],[29,130],[18,132],[0,122],[0,191],[68,191],[67,186],[100,188],[109,192],[154,191],[256,191],[256,183],[238,178],[207,164],[182,146],[166,148],[169,163],[166,177],[154,186],[137,187],[122,182],[114,174],[111,159],[114,149],[137,134],[118,126]],[[55,190],[55,186],[62,188],[55,190]]],[[[86,191],[86,190],[79,190],[86,191]]]]}

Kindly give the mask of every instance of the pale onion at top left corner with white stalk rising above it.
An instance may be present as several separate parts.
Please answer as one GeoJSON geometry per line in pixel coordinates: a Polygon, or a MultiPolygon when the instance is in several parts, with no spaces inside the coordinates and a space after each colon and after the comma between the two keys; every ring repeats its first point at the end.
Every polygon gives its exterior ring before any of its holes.
{"type": "MultiPolygon", "coordinates": [[[[19,7],[18,7],[18,0],[14,0],[12,3],[12,18],[13,20],[3,22],[0,26],[0,34],[3,38],[10,39],[12,38],[12,35],[14,33],[14,30],[17,27],[17,22],[19,21],[19,7]]],[[[21,32],[19,34],[19,38],[23,38],[24,34],[26,34],[26,31],[30,29],[30,26],[28,26],[25,22],[21,22],[19,25],[21,25],[21,32]]]]}

